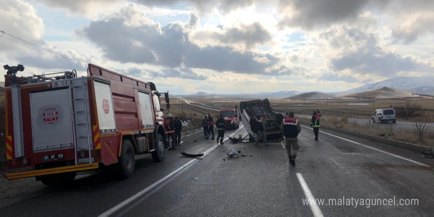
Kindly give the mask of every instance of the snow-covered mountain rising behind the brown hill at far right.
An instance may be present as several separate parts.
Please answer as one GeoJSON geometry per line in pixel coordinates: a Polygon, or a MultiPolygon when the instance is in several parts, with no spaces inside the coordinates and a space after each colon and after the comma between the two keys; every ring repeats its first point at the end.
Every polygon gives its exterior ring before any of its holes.
{"type": "Polygon", "coordinates": [[[361,87],[340,92],[339,95],[360,93],[369,90],[376,90],[382,87],[392,87],[416,94],[434,95],[434,76],[425,77],[396,77],[383,80],[373,84],[365,84],[361,87]]]}

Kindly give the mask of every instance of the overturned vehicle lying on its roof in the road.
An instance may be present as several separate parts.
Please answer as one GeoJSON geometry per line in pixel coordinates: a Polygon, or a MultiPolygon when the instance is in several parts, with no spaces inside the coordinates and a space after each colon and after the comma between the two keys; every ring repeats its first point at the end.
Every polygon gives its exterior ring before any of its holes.
{"type": "Polygon", "coordinates": [[[264,113],[268,114],[265,124],[267,141],[283,139],[280,125],[284,117],[281,113],[276,113],[271,108],[268,99],[242,101],[240,102],[240,110],[244,127],[249,133],[249,141],[253,142],[256,140],[258,136],[258,118],[264,113]]]}

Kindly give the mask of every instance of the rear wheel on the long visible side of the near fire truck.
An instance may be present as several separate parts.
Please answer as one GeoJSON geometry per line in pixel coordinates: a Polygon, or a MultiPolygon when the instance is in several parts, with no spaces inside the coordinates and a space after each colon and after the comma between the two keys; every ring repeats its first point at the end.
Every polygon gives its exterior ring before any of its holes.
{"type": "Polygon", "coordinates": [[[135,166],[133,145],[129,140],[123,140],[116,172],[121,179],[127,179],[133,176],[135,166]]]}

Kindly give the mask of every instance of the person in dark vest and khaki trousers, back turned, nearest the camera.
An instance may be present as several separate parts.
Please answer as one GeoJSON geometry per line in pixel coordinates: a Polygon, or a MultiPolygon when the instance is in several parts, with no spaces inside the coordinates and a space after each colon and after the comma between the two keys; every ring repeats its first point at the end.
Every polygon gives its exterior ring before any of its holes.
{"type": "Polygon", "coordinates": [[[298,151],[297,136],[301,131],[301,126],[298,120],[294,118],[294,112],[290,111],[288,115],[285,115],[280,129],[285,136],[285,148],[288,152],[289,163],[295,166],[295,157],[298,151]]]}

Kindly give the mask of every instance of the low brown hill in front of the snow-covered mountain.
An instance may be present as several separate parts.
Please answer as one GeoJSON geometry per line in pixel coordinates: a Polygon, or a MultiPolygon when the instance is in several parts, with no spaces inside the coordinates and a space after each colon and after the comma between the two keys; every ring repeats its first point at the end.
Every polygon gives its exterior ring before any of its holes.
{"type": "Polygon", "coordinates": [[[355,94],[348,94],[341,97],[356,98],[356,99],[387,99],[387,98],[404,98],[404,97],[421,97],[421,96],[397,88],[382,87],[376,90],[364,91],[355,94]]]}

